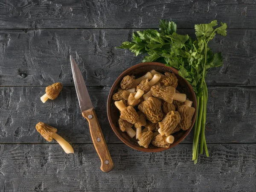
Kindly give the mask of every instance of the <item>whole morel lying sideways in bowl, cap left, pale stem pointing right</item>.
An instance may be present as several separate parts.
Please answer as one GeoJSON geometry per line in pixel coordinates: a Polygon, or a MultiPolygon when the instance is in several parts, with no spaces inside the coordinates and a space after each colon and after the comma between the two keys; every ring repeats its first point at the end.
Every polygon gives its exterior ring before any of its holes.
{"type": "Polygon", "coordinates": [[[186,94],[175,93],[175,88],[168,86],[155,85],[151,87],[151,93],[153,96],[163,99],[168,103],[172,103],[173,99],[184,102],[186,100],[186,94]]]}

